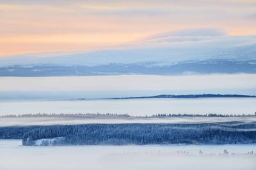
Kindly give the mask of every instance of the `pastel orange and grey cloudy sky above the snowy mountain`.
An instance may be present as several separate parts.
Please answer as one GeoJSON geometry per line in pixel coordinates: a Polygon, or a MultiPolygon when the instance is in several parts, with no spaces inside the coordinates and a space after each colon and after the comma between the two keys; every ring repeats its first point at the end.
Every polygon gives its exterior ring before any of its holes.
{"type": "Polygon", "coordinates": [[[86,51],[179,29],[256,34],[256,1],[0,1],[0,56],[86,51]]]}

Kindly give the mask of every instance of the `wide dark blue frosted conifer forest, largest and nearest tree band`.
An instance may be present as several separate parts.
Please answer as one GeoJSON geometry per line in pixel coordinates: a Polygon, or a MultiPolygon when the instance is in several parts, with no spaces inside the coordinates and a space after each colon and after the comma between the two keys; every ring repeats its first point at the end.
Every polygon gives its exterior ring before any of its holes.
{"type": "MultiPolygon", "coordinates": [[[[22,145],[60,138],[54,145],[165,145],[256,143],[256,124],[83,124],[0,127],[0,138],[22,139],[22,145]]],[[[47,145],[47,143],[44,145],[47,145]]]]}

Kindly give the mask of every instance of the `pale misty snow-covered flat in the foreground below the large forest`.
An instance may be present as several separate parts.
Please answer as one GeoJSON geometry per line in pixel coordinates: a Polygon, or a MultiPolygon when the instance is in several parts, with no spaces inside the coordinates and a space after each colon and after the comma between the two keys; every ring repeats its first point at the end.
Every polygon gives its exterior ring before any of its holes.
{"type": "Polygon", "coordinates": [[[20,144],[20,140],[0,139],[0,169],[254,170],[256,166],[255,154],[239,154],[255,153],[256,145],[20,146],[20,144]],[[199,154],[200,150],[202,154],[199,154]],[[227,150],[229,154],[223,155],[223,150],[227,150]]]}

